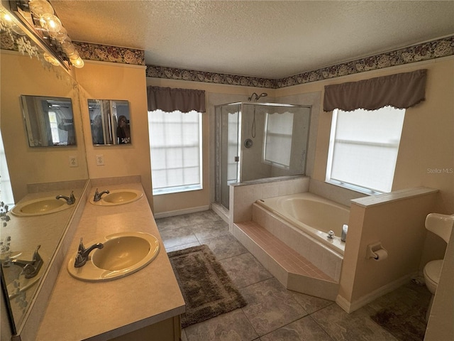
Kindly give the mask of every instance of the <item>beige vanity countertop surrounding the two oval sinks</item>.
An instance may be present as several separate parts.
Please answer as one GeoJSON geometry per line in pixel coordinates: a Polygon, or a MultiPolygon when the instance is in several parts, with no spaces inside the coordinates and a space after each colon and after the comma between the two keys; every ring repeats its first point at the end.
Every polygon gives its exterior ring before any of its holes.
{"type": "MultiPolygon", "coordinates": [[[[143,192],[140,183],[109,185],[102,190],[121,188],[143,192]]],[[[89,197],[95,190],[92,188],[89,197]]],[[[184,299],[145,195],[126,205],[107,207],[87,200],[36,340],[109,340],[182,313],[184,299]],[[126,231],[148,232],[159,240],[160,252],[148,266],[114,281],[86,282],[70,276],[67,263],[77,252],[81,237],[89,243],[126,231]]]]}

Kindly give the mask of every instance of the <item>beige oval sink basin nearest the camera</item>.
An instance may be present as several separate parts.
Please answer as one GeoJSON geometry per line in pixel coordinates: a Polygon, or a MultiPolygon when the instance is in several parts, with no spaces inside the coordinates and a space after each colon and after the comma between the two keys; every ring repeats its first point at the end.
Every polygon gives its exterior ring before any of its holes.
{"type": "Polygon", "coordinates": [[[109,234],[85,246],[101,242],[102,249],[94,249],[84,266],[74,267],[74,255],[67,269],[71,276],[81,281],[111,281],[131,275],[151,263],[160,250],[155,236],[143,232],[109,234]]]}

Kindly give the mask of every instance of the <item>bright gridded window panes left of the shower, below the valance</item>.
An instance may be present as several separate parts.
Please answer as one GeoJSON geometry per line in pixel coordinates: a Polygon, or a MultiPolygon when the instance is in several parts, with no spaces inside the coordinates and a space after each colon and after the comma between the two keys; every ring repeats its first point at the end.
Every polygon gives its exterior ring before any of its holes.
{"type": "Polygon", "coordinates": [[[200,190],[201,113],[148,112],[153,195],[200,190]]]}

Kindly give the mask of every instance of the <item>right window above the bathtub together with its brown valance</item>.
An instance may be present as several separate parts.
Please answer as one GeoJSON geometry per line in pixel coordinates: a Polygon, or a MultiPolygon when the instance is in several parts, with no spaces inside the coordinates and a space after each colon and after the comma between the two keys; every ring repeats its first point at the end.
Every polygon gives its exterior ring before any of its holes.
{"type": "Polygon", "coordinates": [[[327,85],[323,110],[333,112],[326,181],[361,193],[388,193],[405,109],[425,99],[427,70],[327,85]]]}

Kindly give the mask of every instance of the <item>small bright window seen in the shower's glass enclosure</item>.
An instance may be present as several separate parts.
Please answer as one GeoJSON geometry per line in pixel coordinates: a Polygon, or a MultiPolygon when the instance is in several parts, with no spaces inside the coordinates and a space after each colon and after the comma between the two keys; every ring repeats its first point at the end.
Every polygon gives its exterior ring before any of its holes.
{"type": "Polygon", "coordinates": [[[293,113],[268,114],[265,121],[263,161],[289,169],[292,152],[293,113]]]}

